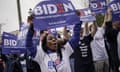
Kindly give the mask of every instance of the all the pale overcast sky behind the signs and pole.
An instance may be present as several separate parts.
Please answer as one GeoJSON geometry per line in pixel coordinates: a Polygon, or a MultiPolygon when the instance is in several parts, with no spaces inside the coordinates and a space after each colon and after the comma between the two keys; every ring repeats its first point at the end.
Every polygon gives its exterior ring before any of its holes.
{"type": "MultiPolygon", "coordinates": [[[[19,29],[17,0],[0,0],[1,31],[11,32],[19,29]]],[[[29,9],[33,9],[42,0],[20,0],[22,22],[26,22],[29,9]]],[[[71,0],[76,9],[85,8],[88,0],[71,0]]]]}

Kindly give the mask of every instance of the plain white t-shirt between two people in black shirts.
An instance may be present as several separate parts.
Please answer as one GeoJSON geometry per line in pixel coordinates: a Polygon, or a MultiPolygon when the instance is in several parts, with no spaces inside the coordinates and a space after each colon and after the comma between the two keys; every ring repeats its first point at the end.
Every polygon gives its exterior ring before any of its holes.
{"type": "Polygon", "coordinates": [[[104,29],[98,28],[96,34],[94,35],[94,39],[91,42],[93,61],[108,59],[103,35],[104,29]]]}

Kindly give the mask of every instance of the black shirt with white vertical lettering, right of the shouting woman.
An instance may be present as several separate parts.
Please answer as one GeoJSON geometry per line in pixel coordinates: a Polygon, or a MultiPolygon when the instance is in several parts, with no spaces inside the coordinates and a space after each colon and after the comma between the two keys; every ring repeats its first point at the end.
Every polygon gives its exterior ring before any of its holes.
{"type": "Polygon", "coordinates": [[[80,39],[79,46],[74,49],[75,72],[94,72],[90,42],[93,37],[90,35],[80,39]]]}

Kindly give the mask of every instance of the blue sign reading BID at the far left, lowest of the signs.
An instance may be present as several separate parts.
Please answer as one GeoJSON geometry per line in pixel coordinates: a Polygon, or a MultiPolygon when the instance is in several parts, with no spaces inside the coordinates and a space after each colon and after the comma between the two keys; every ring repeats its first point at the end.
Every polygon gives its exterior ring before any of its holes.
{"type": "Polygon", "coordinates": [[[19,54],[26,51],[24,47],[18,46],[17,36],[13,34],[3,32],[2,41],[3,54],[19,54]]]}

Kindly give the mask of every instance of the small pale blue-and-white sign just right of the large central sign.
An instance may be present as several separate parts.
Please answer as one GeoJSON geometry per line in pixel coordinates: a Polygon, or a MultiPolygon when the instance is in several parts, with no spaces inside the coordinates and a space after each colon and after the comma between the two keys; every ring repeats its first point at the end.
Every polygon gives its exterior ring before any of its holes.
{"type": "Polygon", "coordinates": [[[92,12],[89,8],[80,10],[80,20],[85,22],[95,21],[95,16],[92,15],[92,12]]]}

